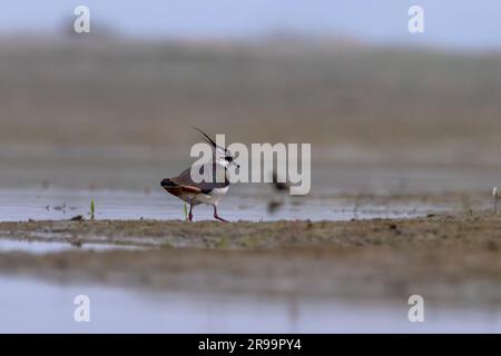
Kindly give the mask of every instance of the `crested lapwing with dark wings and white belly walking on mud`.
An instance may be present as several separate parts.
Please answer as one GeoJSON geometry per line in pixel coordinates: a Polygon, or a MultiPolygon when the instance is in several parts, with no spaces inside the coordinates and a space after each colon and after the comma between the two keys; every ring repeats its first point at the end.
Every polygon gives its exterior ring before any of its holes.
{"type": "Polygon", "coordinates": [[[229,179],[227,175],[227,168],[229,165],[236,165],[233,155],[224,147],[216,145],[216,142],[207,136],[200,129],[193,127],[204,136],[204,139],[213,147],[213,160],[209,164],[189,167],[179,174],[177,177],[164,178],[161,180],[161,187],[173,196],[186,201],[189,205],[189,211],[187,220],[193,221],[193,207],[205,204],[210,205],[214,208],[214,218],[224,222],[228,220],[222,218],[217,214],[217,205],[219,199],[224,197],[229,189],[229,179]],[[209,167],[212,166],[212,167],[209,167]],[[204,175],[204,170],[212,168],[213,179],[212,181],[196,182],[191,178],[191,169],[198,169],[200,175],[204,175]],[[216,178],[222,179],[217,180],[216,178]]]}

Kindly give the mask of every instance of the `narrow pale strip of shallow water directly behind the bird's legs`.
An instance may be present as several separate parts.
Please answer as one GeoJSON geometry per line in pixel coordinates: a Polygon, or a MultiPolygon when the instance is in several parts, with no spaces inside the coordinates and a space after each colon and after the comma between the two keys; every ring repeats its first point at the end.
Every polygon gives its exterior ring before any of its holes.
{"type": "MultiPolygon", "coordinates": [[[[0,220],[70,219],[81,215],[89,218],[90,200],[95,200],[98,219],[184,219],[183,202],[163,191],[76,189],[0,189],[0,220]]],[[[363,201],[355,209],[353,201],[318,197],[266,196],[230,192],[219,204],[218,212],[229,220],[350,220],[353,218],[415,217],[446,210],[442,205],[386,204],[363,201]],[[272,208],[272,202],[274,210],[272,208]]],[[[213,219],[213,208],[194,208],[195,220],[213,219]]]]}

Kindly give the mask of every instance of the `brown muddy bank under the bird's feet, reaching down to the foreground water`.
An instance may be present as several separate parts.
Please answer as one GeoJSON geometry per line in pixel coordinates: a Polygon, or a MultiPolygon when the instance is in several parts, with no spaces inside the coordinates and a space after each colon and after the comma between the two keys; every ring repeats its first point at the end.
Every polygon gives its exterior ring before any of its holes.
{"type": "Polygon", "coordinates": [[[149,245],[0,254],[4,276],[199,293],[501,303],[501,217],[347,222],[2,222],[3,237],[149,245]]]}

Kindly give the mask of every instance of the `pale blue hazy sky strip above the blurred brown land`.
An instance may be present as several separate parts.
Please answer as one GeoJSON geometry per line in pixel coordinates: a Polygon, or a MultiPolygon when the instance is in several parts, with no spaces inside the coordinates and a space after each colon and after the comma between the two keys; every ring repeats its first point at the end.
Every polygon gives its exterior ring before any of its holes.
{"type": "Polygon", "coordinates": [[[141,37],[247,37],[276,31],[370,41],[501,48],[500,0],[17,0],[0,4],[0,31],[56,32],[77,4],[91,19],[141,37]],[[424,8],[425,33],[410,34],[407,9],[424,8]]]}

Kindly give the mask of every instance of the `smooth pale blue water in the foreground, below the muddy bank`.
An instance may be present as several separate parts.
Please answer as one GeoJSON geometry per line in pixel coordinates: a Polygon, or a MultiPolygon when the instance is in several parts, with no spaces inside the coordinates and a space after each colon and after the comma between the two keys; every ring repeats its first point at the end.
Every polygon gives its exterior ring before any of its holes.
{"type": "Polygon", "coordinates": [[[424,323],[410,323],[407,312],[406,300],[139,291],[0,277],[0,333],[501,332],[494,307],[426,305],[424,323]],[[73,319],[77,295],[90,299],[90,323],[73,319]]]}

